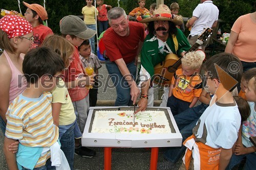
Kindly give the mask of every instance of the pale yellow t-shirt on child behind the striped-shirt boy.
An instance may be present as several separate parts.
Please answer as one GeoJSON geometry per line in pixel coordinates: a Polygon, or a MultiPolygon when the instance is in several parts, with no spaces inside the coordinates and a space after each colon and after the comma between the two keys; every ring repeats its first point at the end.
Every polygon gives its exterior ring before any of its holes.
{"type": "Polygon", "coordinates": [[[58,85],[52,90],[52,103],[62,104],[59,113],[59,125],[70,125],[75,122],[74,107],[63,80],[59,80],[58,85]]]}

